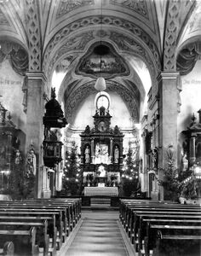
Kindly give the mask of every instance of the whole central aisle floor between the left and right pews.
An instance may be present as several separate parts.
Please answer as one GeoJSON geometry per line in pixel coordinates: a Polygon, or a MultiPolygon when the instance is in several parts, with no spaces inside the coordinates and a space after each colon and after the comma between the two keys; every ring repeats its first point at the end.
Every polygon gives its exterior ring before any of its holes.
{"type": "Polygon", "coordinates": [[[116,211],[83,211],[78,230],[66,249],[68,256],[135,255],[116,211]]]}

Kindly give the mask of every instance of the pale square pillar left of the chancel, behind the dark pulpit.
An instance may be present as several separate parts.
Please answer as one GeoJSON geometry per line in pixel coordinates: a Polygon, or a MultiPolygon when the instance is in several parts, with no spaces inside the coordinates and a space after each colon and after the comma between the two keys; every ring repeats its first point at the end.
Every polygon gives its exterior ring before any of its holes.
{"type": "MultiPolygon", "coordinates": [[[[27,112],[26,112],[26,152],[33,143],[37,156],[36,197],[43,190],[43,115],[46,78],[43,73],[26,73],[27,76],[27,112]]],[[[46,174],[45,172],[44,174],[46,174]]]]}

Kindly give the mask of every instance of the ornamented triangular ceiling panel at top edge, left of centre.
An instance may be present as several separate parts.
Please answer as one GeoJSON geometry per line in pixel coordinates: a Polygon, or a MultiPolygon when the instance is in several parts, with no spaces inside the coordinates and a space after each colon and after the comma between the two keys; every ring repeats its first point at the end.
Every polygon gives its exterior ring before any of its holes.
{"type": "Polygon", "coordinates": [[[56,18],[59,19],[60,17],[70,13],[74,9],[93,4],[95,4],[94,0],[60,0],[60,5],[56,14],[56,18]]]}

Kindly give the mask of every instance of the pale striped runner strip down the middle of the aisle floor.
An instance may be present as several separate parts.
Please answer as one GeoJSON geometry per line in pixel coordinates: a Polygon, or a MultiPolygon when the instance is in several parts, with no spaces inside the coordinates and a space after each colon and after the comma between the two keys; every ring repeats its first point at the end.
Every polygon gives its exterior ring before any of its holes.
{"type": "Polygon", "coordinates": [[[116,219],[83,218],[68,256],[128,256],[116,219]]]}

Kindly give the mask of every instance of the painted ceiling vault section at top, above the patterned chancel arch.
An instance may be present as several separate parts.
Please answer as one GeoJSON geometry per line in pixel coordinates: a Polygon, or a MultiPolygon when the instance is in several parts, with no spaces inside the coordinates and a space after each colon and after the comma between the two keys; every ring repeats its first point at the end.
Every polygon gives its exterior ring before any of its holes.
{"type": "Polygon", "coordinates": [[[138,3],[122,0],[74,0],[74,1],[52,1],[49,10],[50,17],[46,29],[46,42],[44,47],[49,44],[49,40],[60,31],[62,27],[76,22],[81,18],[89,16],[114,16],[128,22],[134,22],[143,28],[144,32],[150,34],[151,38],[158,44],[158,20],[153,1],[141,0],[138,3]],[[129,3],[130,2],[130,3],[129,3]]]}

